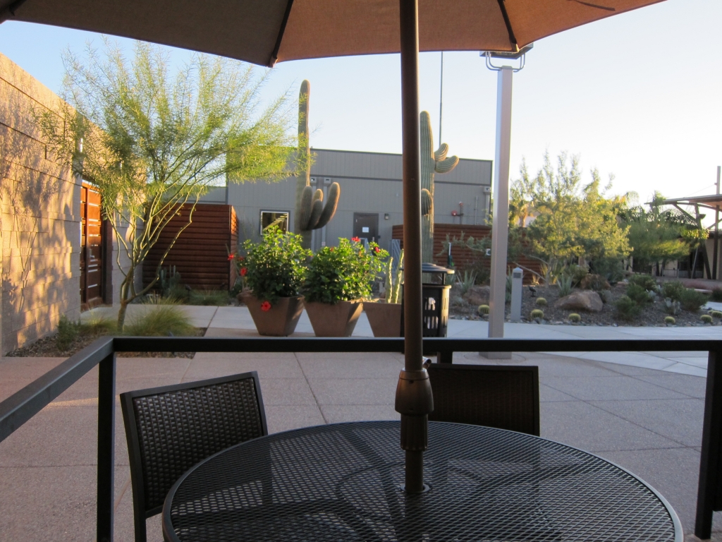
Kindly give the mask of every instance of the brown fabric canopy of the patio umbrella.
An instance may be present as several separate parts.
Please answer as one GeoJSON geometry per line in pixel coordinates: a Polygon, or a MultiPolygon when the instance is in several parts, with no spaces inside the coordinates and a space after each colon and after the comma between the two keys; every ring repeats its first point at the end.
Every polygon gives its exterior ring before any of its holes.
{"type": "MultiPolygon", "coordinates": [[[[419,51],[516,51],[661,0],[419,0],[419,51]]],[[[399,0],[0,0],[0,20],[39,22],[276,61],[398,53],[399,0]]]]}

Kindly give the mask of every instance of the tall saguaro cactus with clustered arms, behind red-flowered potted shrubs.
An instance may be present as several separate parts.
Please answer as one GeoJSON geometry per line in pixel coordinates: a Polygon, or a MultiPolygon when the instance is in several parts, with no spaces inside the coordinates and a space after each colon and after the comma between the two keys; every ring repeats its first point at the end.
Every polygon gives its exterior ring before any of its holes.
{"type": "Polygon", "coordinates": [[[302,236],[304,249],[311,247],[311,231],[323,228],[334,218],[339,205],[341,186],[332,183],[329,186],[329,199],[323,205],[323,190],[311,186],[311,151],[308,143],[308,101],[310,83],[304,79],[298,93],[298,160],[304,173],[296,182],[295,232],[302,236]]]}

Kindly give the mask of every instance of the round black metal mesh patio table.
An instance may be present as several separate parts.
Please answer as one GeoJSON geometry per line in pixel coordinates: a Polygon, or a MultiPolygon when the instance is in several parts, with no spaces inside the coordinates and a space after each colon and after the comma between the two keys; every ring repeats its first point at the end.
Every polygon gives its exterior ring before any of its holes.
{"type": "Polygon", "coordinates": [[[399,423],[309,427],[238,444],[165,499],[166,541],[681,542],[643,481],[527,434],[429,424],[425,481],[409,496],[399,423]]]}

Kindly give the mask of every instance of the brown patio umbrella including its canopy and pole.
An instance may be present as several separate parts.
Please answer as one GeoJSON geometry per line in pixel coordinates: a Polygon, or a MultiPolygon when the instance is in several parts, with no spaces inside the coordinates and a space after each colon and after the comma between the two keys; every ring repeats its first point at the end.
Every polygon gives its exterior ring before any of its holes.
{"type": "Polygon", "coordinates": [[[405,369],[396,390],[406,491],[423,485],[419,51],[518,51],[587,22],[661,0],[0,0],[19,20],[121,35],[273,66],[277,61],[401,53],[405,369]]]}

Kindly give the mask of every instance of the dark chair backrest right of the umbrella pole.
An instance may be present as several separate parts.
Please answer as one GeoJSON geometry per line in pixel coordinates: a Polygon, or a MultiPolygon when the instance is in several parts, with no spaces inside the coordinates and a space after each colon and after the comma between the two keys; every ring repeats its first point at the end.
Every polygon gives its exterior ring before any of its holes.
{"type": "Polygon", "coordinates": [[[539,367],[430,364],[430,421],[452,421],[539,436],[539,367]]]}

